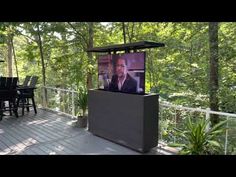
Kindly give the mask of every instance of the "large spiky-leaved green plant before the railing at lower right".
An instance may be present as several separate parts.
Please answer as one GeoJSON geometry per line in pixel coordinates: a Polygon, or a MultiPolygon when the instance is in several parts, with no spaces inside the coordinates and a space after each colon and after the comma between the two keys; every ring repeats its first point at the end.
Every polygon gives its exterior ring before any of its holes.
{"type": "Polygon", "coordinates": [[[227,120],[207,128],[209,120],[199,119],[196,122],[186,119],[185,129],[175,129],[176,135],[183,139],[182,144],[170,144],[172,147],[180,147],[181,155],[211,155],[222,152],[222,146],[218,141],[219,135],[225,131],[227,120]]]}

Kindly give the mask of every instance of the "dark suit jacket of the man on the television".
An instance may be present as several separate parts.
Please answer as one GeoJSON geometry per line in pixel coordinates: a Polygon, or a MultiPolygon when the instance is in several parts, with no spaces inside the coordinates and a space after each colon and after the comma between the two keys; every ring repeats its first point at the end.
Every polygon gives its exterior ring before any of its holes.
{"type": "Polygon", "coordinates": [[[137,93],[137,81],[132,78],[129,74],[126,76],[126,80],[121,87],[121,90],[118,89],[118,76],[113,75],[111,83],[109,85],[110,91],[120,91],[125,93],[137,93]]]}

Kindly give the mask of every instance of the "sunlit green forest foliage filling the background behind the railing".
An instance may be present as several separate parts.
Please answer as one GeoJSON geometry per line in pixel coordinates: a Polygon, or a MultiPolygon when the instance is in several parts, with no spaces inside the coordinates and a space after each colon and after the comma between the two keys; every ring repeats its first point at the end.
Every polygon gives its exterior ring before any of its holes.
{"type": "MultiPolygon", "coordinates": [[[[46,85],[78,90],[92,73],[97,82],[95,55],[86,52],[89,38],[87,22],[0,23],[0,59],[7,61],[7,34],[14,34],[17,65],[25,75],[41,76],[37,25],[42,37],[46,67],[46,85]],[[72,26],[70,25],[72,24],[72,26]]],[[[147,49],[146,92],[159,93],[166,101],[191,107],[209,107],[209,36],[208,23],[124,22],[127,42],[150,40],[165,47],[147,49]]],[[[219,103],[220,110],[236,112],[236,23],[219,26],[219,103]]],[[[123,43],[121,22],[94,23],[95,47],[123,43]]],[[[7,62],[2,63],[6,73],[7,62]]],[[[13,67],[15,70],[15,67],[13,67]]],[[[15,75],[15,71],[13,71],[15,75]]],[[[42,78],[39,78],[41,83],[42,78]]]]}

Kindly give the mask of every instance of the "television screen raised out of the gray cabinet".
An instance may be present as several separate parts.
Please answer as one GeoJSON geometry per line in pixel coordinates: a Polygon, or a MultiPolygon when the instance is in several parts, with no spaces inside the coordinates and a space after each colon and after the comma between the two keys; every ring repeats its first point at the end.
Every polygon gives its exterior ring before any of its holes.
{"type": "Polygon", "coordinates": [[[98,58],[98,88],[145,93],[145,52],[102,55],[98,58]]]}

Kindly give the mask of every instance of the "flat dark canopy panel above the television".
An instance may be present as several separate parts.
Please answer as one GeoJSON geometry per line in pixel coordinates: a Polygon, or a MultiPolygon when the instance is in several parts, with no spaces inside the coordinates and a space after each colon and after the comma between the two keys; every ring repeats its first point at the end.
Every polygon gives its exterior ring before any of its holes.
{"type": "Polygon", "coordinates": [[[88,49],[87,52],[117,52],[117,51],[125,51],[130,52],[130,50],[136,51],[137,49],[146,49],[146,48],[156,48],[156,47],[164,47],[164,43],[157,43],[151,41],[140,41],[140,42],[133,42],[127,44],[116,44],[110,45],[105,47],[94,47],[88,49]]]}

